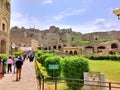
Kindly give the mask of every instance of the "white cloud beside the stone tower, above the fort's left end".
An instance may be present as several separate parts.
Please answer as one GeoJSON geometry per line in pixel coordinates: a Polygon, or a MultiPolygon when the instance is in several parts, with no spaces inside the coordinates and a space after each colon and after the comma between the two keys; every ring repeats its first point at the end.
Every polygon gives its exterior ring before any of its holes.
{"type": "Polygon", "coordinates": [[[39,27],[41,22],[34,17],[29,17],[27,15],[22,15],[18,12],[13,12],[11,15],[11,27],[39,27]]]}

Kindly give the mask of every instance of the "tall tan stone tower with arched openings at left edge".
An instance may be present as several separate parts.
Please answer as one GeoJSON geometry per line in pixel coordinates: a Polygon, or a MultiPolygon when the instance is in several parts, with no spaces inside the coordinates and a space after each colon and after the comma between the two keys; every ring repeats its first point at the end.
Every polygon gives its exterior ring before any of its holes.
{"type": "Polygon", "coordinates": [[[9,53],[10,0],[0,0],[0,54],[9,53]]]}

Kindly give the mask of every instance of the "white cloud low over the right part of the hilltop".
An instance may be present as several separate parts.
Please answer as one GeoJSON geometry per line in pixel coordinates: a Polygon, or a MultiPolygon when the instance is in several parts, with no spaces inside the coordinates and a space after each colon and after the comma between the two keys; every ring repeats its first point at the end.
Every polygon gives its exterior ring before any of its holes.
{"type": "Polygon", "coordinates": [[[92,33],[92,32],[106,32],[112,30],[120,30],[120,22],[116,22],[113,19],[96,19],[77,25],[58,25],[60,28],[72,28],[73,31],[81,33],[92,33]]]}

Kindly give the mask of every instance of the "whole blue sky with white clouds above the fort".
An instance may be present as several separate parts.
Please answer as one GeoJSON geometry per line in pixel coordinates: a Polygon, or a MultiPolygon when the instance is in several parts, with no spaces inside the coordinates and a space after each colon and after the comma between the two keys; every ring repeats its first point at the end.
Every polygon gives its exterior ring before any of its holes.
{"type": "Polygon", "coordinates": [[[11,27],[44,30],[54,25],[81,33],[120,30],[115,8],[120,8],[120,0],[11,0],[11,27]]]}

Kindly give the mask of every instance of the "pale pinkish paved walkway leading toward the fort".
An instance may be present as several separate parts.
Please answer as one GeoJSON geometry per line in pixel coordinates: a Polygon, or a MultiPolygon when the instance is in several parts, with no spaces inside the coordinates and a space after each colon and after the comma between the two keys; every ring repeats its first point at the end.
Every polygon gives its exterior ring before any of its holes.
{"type": "Polygon", "coordinates": [[[0,90],[38,90],[33,62],[24,62],[21,80],[16,81],[13,73],[0,79],[0,90]]]}

